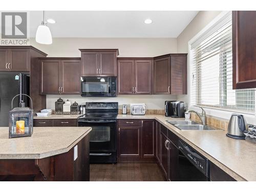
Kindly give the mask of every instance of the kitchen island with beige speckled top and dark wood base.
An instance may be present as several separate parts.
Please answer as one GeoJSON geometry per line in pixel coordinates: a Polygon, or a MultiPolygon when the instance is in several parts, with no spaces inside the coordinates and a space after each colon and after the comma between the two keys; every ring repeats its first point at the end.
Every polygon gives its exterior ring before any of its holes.
{"type": "Polygon", "coordinates": [[[32,137],[8,138],[0,127],[1,181],[89,181],[91,127],[34,127],[32,137]]]}

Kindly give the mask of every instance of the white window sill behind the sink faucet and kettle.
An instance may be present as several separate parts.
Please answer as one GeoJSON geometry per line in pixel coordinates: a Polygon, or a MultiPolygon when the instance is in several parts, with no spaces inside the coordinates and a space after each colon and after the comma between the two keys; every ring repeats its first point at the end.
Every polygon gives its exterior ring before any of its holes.
{"type": "MultiPolygon", "coordinates": [[[[224,111],[224,110],[218,110],[218,109],[212,109],[209,108],[207,106],[202,106],[202,108],[204,109],[204,111],[206,112],[206,115],[210,115],[210,116],[214,116],[217,118],[222,118],[222,119],[227,119],[229,120],[231,115],[233,113],[237,113],[237,112],[232,112],[232,111],[224,111]]],[[[191,105],[189,106],[188,109],[193,109],[199,113],[202,112],[202,110],[200,108],[198,108],[196,105],[191,105]]],[[[245,117],[246,122],[248,124],[254,124],[256,125],[256,118],[255,118],[255,114],[245,114],[245,113],[238,113],[241,114],[245,117]]]]}

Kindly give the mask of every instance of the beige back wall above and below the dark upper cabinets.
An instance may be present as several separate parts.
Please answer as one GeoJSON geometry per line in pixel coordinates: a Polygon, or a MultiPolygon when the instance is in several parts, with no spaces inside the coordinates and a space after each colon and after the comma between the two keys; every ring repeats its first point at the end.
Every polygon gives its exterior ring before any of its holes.
{"type": "MultiPolygon", "coordinates": [[[[79,48],[108,49],[118,48],[119,57],[154,57],[167,53],[177,53],[177,38],[53,38],[52,45],[40,45],[35,39],[30,45],[44,51],[49,57],[80,57],[79,48]]],[[[47,108],[54,109],[59,95],[47,95],[47,108]]],[[[165,100],[176,100],[176,95],[120,95],[116,98],[88,98],[79,95],[61,95],[64,100],[77,101],[116,101],[121,104],[132,102],[146,103],[148,109],[164,109],[165,100]]]]}

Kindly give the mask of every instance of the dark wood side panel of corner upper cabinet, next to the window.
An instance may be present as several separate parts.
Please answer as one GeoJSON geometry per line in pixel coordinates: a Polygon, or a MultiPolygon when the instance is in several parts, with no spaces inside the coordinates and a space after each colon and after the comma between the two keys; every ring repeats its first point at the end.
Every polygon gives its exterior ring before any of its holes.
{"type": "Polygon", "coordinates": [[[170,57],[170,94],[187,94],[187,56],[170,57]]]}

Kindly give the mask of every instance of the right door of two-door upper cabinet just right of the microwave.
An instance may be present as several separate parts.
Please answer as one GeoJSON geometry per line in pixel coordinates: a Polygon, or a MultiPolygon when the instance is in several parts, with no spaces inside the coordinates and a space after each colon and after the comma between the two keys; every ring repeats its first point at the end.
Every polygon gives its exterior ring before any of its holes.
{"type": "Polygon", "coordinates": [[[152,94],[152,60],[135,60],[135,94],[152,94]]]}

